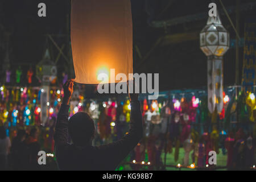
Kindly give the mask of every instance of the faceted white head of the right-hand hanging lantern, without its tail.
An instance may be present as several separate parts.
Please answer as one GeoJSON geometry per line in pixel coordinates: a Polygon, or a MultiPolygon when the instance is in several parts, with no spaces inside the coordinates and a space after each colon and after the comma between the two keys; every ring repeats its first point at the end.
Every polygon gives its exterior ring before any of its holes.
{"type": "Polygon", "coordinates": [[[229,33],[222,26],[220,16],[209,17],[200,32],[200,48],[207,56],[223,56],[229,49],[229,33]]]}

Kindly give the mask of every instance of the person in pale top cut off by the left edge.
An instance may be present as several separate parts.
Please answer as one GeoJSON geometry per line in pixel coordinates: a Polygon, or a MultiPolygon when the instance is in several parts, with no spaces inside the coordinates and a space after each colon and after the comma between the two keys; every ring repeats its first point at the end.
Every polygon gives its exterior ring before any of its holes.
{"type": "Polygon", "coordinates": [[[8,154],[10,152],[11,142],[6,136],[5,127],[0,126],[0,171],[8,167],[8,154]]]}

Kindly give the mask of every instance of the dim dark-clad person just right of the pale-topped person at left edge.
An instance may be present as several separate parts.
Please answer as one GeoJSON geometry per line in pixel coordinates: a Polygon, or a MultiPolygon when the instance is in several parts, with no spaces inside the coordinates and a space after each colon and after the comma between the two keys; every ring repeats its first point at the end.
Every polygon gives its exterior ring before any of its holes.
{"type": "Polygon", "coordinates": [[[24,163],[26,157],[26,131],[18,130],[17,136],[13,139],[11,145],[11,161],[14,170],[24,170],[24,163]]]}

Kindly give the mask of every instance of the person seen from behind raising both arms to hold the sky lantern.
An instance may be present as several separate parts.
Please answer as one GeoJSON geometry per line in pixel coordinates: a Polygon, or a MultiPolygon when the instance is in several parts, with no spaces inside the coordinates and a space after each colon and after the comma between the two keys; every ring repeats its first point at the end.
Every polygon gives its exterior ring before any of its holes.
{"type": "Polygon", "coordinates": [[[93,119],[79,112],[68,121],[69,100],[73,93],[73,80],[64,86],[63,104],[57,116],[55,129],[55,154],[61,170],[114,170],[142,138],[141,105],[137,94],[131,100],[130,131],[117,142],[92,146],[95,136],[93,119]],[[73,144],[68,144],[68,133],[73,144]]]}

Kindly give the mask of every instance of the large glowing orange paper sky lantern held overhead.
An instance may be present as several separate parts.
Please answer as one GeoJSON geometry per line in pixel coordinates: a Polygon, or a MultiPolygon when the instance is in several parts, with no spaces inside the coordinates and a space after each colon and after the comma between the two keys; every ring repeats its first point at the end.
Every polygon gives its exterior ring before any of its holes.
{"type": "Polygon", "coordinates": [[[72,1],[71,43],[75,81],[99,84],[110,69],[133,73],[133,23],[130,0],[72,1]]]}

